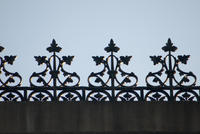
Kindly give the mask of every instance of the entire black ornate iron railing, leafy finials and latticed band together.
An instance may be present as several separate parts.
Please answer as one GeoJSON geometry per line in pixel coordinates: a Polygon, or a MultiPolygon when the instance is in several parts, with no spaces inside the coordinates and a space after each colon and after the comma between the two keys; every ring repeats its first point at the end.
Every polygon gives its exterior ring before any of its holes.
{"type": "MultiPolygon", "coordinates": [[[[92,72],[88,86],[79,86],[80,77],[68,72],[65,66],[71,65],[74,56],[59,57],[61,51],[55,40],[47,51],[47,56],[35,56],[38,65],[45,66],[42,72],[33,72],[30,87],[22,87],[19,73],[10,72],[6,64],[12,65],[16,56],[0,57],[0,101],[199,101],[200,87],[192,72],[181,70],[179,64],[187,64],[189,55],[174,56],[177,47],[168,39],[162,50],[166,56],[150,56],[160,70],[146,76],[146,86],[137,86],[138,77],[126,72],[121,65],[128,65],[132,56],[116,56],[119,47],[111,39],[105,51],[107,57],[93,56],[97,66],[103,68],[92,72]]],[[[0,52],[4,48],[0,46],[0,52]]]]}

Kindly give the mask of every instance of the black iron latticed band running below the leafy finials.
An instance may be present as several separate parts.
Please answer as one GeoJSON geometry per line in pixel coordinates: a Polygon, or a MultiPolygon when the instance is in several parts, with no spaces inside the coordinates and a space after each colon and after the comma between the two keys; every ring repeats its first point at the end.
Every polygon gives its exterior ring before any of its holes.
{"type": "Polygon", "coordinates": [[[196,101],[193,87],[0,87],[0,101],[196,101]],[[172,93],[171,93],[172,91],[172,93]],[[114,94],[113,94],[114,93],[114,94]],[[171,95],[172,94],[172,95],[171,95]]]}

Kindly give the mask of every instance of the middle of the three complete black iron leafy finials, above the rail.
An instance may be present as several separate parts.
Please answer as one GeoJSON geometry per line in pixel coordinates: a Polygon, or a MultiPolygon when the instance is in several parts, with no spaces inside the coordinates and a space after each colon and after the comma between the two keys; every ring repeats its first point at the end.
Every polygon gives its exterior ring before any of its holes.
{"type": "Polygon", "coordinates": [[[103,64],[103,70],[94,73],[92,72],[89,77],[88,77],[88,83],[89,86],[92,87],[98,87],[103,86],[103,87],[132,87],[136,86],[138,82],[137,76],[131,72],[127,73],[122,70],[121,64],[128,65],[129,61],[132,56],[120,56],[120,59],[114,55],[114,53],[117,53],[119,51],[119,47],[117,47],[114,43],[114,41],[111,39],[110,43],[108,46],[104,49],[107,53],[110,53],[110,55],[104,59],[104,56],[93,56],[93,60],[96,62],[96,65],[101,65],[103,64]],[[108,78],[107,80],[103,79],[103,76],[107,72],[108,78]],[[122,81],[119,81],[116,75],[118,73],[121,73],[121,76],[123,77],[122,81]],[[95,84],[98,85],[95,85],[95,84]],[[110,83],[110,84],[109,84],[110,83]],[[116,83],[118,85],[116,85],[116,83]],[[127,83],[132,83],[130,85],[126,85],[127,83]]]}

